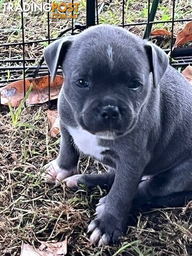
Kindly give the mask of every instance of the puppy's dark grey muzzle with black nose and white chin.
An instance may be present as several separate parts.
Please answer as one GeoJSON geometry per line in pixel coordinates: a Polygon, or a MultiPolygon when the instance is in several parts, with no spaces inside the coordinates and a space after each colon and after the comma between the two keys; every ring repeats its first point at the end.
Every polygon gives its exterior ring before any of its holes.
{"type": "Polygon", "coordinates": [[[127,103],[114,98],[89,101],[78,116],[78,122],[83,129],[94,134],[103,132],[124,134],[129,130],[133,119],[131,108],[127,103]]]}

